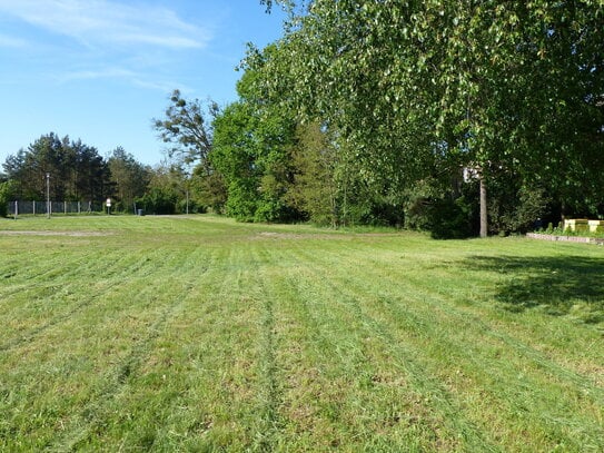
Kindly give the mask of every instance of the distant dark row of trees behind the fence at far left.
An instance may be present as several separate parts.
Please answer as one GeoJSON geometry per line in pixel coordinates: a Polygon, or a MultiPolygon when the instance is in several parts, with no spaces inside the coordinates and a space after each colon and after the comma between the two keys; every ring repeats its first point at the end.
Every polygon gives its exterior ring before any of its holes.
{"type": "MultiPolygon", "coordinates": [[[[186,178],[181,168],[162,164],[155,168],[118,147],[107,158],[97,148],[69,136],[42,135],[27,149],[10,155],[0,174],[0,214],[12,200],[82,201],[102,209],[174,214],[184,206],[186,178]]],[[[197,207],[191,205],[191,211],[197,207]]]]}

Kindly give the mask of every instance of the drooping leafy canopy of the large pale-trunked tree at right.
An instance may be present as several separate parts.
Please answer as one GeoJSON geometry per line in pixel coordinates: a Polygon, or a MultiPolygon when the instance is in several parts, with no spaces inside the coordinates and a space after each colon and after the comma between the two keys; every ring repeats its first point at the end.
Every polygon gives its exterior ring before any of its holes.
{"type": "Polygon", "coordinates": [[[466,167],[495,187],[492,232],[525,229],[548,197],[602,209],[601,2],[278,3],[285,37],[246,62],[271,102],[326,125],[376,205],[466,167]],[[489,167],[519,180],[499,190],[489,167]]]}

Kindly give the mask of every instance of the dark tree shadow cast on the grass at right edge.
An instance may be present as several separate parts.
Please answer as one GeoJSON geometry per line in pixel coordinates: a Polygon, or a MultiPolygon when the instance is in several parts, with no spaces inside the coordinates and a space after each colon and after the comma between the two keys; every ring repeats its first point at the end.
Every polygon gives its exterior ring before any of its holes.
{"type": "Polygon", "coordinates": [[[549,315],[604,322],[604,259],[474,256],[462,265],[506,276],[495,286],[494,297],[512,312],[542,307],[549,315]]]}

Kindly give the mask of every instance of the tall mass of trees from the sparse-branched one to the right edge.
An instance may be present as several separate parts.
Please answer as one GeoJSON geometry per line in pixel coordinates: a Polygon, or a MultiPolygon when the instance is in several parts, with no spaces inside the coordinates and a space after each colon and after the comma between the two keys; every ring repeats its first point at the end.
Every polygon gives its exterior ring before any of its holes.
{"type": "Polygon", "coordinates": [[[283,37],[248,47],[235,102],[172,92],[156,186],[244,221],[435,237],[604,215],[602,2],[260,3],[283,37]]]}

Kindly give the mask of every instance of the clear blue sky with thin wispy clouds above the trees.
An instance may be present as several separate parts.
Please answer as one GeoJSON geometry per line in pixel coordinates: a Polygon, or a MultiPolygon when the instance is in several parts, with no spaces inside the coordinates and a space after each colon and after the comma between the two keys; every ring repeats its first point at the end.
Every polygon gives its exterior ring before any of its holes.
{"type": "Polygon", "coordinates": [[[171,90],[236,100],[246,42],[281,19],[258,0],[0,0],[0,165],[51,131],[159,164],[171,90]]]}

